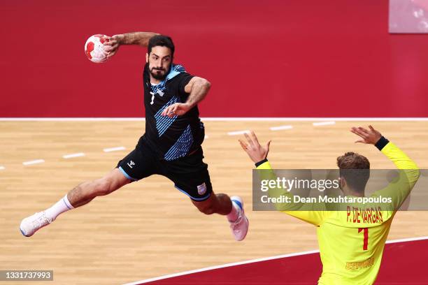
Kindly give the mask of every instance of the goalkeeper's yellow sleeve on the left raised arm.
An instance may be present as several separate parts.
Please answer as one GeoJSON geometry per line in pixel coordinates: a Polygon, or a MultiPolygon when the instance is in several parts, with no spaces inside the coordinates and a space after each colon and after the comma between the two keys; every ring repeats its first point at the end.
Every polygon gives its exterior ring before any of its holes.
{"type": "MultiPolygon", "coordinates": [[[[262,163],[257,166],[257,170],[260,170],[260,180],[276,180],[276,174],[273,172],[269,161],[262,163]]],[[[292,194],[285,191],[285,189],[269,188],[268,195],[271,198],[279,198],[280,196],[289,196],[292,199],[292,194]]],[[[301,219],[315,226],[319,226],[327,216],[327,211],[315,211],[312,208],[312,203],[275,203],[276,210],[290,214],[292,217],[301,219]]]]}

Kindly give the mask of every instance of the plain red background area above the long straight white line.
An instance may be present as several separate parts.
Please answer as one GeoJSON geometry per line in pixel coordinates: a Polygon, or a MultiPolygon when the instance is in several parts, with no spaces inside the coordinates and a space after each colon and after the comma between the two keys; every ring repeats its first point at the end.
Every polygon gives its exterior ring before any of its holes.
{"type": "Polygon", "coordinates": [[[428,36],[387,0],[2,0],[0,117],[141,117],[145,50],[92,64],[92,34],[157,31],[210,80],[202,117],[428,117],[428,36]]]}

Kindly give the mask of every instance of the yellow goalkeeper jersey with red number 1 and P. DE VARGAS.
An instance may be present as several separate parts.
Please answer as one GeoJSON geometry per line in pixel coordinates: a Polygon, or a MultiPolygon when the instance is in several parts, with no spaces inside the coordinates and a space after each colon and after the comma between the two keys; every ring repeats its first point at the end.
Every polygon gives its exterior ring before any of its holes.
{"type": "MultiPolygon", "coordinates": [[[[386,140],[387,141],[387,140],[386,140]]],[[[318,243],[322,261],[322,275],[318,284],[373,284],[378,275],[385,241],[395,212],[418,181],[418,166],[392,142],[381,149],[397,168],[404,181],[400,187],[394,184],[394,199],[391,207],[353,205],[348,211],[284,210],[281,212],[297,217],[317,227],[318,243]]],[[[257,169],[271,170],[269,161],[257,169]]],[[[269,172],[268,172],[269,173],[269,172]]],[[[270,171],[271,177],[275,174],[270,171]]],[[[266,177],[266,176],[265,176],[266,177]]],[[[386,187],[373,193],[380,196],[389,193],[386,187]]],[[[269,190],[269,196],[290,195],[283,189],[269,190]]],[[[384,195],[385,196],[385,195],[384,195]]],[[[285,206],[285,207],[284,207],[285,206]]]]}

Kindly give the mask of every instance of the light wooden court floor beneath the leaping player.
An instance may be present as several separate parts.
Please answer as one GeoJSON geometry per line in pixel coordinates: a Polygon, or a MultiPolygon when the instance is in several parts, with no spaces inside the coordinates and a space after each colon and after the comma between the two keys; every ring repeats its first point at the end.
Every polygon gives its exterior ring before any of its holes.
{"type": "MultiPolygon", "coordinates": [[[[224,217],[204,216],[164,177],[152,176],[59,216],[31,238],[22,218],[44,210],[69,189],[101,177],[131,149],[144,122],[0,122],[0,270],[54,270],[49,284],[123,284],[251,258],[318,249],[315,228],[278,212],[251,211],[252,163],[229,131],[254,130],[272,139],[274,168],[336,168],[347,151],[372,168],[394,168],[373,146],[355,144],[350,126],[367,122],[206,122],[205,161],[216,193],[240,195],[250,219],[235,242],[224,217]],[[293,129],[271,131],[291,124],[293,129]],[[104,152],[107,147],[126,150],[104,152]],[[64,154],[85,156],[63,159],[64,154]],[[23,166],[22,162],[44,159],[23,166]]],[[[428,168],[428,122],[373,122],[428,168]]],[[[389,239],[428,235],[428,212],[399,212],[389,239]]],[[[10,282],[0,282],[10,284],[10,282]]],[[[16,283],[14,283],[16,284],[16,283]]],[[[24,282],[22,284],[27,284],[24,282]]],[[[33,282],[31,284],[47,284],[33,282]]]]}

